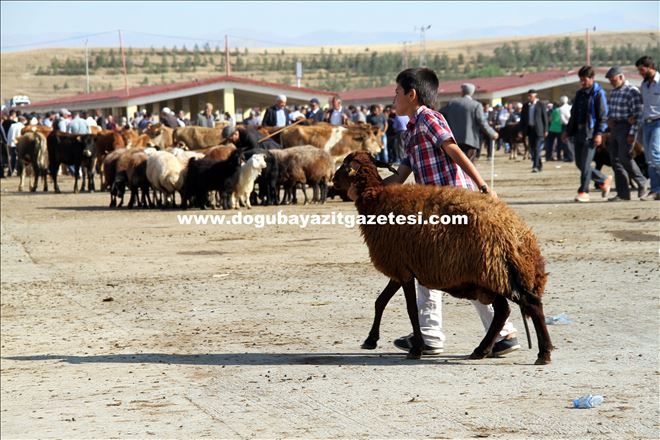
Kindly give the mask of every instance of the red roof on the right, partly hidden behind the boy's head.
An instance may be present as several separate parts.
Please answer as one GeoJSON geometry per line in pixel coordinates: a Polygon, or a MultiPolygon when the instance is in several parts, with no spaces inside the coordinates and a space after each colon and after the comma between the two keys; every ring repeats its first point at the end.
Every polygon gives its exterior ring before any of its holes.
{"type": "MultiPolygon", "coordinates": [[[[475,85],[475,93],[497,92],[517,87],[531,86],[545,81],[552,81],[564,77],[574,77],[577,83],[577,71],[559,71],[551,70],[546,72],[526,73],[521,75],[493,76],[483,78],[470,78],[443,81],[440,79],[438,95],[456,95],[461,91],[461,84],[466,82],[475,85]]],[[[394,89],[396,85],[392,84],[385,87],[375,87],[371,89],[356,89],[341,93],[342,99],[347,101],[360,101],[370,99],[381,99],[386,97],[394,98],[394,89]]]]}

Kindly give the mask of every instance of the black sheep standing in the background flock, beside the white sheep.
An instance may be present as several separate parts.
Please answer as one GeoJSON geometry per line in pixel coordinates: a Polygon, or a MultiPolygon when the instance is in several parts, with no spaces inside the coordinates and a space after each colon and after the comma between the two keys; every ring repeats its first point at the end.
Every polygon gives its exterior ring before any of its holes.
{"type": "Polygon", "coordinates": [[[209,191],[218,191],[223,208],[229,209],[240,168],[241,154],[238,151],[234,151],[226,161],[190,159],[180,191],[181,207],[186,208],[192,201],[200,209],[205,209],[209,191]]]}

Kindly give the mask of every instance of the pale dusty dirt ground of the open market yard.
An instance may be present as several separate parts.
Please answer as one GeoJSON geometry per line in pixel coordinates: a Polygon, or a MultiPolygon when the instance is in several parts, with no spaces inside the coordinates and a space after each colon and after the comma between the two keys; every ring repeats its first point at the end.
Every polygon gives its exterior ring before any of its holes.
{"type": "Polygon", "coordinates": [[[453,298],[442,355],[392,346],[410,331],[401,294],[361,350],[387,280],[357,228],[181,226],[71,180],[3,179],[2,438],[659,438],[660,203],[576,204],[573,165],[530,168],[498,154],[495,187],[539,238],[547,315],[572,320],[549,326],[547,366],[534,333],[466,360],[483,328],[453,298]],[[572,409],[587,393],[603,405],[572,409]]]}

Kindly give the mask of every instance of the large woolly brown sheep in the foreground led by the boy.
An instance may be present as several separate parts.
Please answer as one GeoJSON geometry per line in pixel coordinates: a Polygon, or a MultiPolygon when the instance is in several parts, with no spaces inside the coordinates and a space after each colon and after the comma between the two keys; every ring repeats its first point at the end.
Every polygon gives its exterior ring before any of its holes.
{"type": "MultiPolygon", "coordinates": [[[[360,225],[371,261],[390,283],[376,300],[374,324],[363,348],[375,348],[383,309],[403,286],[413,326],[409,358],[422,354],[422,335],[414,279],[457,298],[493,304],[495,316],[486,336],[470,355],[488,355],[509,316],[507,299],[532,318],[539,344],[537,365],[550,363],[553,349],[545,325],[541,296],[547,274],[532,231],[502,201],[461,188],[426,185],[384,186],[367,153],[351,153],[337,171],[334,184],[348,188],[361,215],[463,215],[468,225],[360,225]]],[[[525,321],[525,327],[527,322],[525,321]]],[[[528,341],[529,332],[528,332],[528,341]]]]}

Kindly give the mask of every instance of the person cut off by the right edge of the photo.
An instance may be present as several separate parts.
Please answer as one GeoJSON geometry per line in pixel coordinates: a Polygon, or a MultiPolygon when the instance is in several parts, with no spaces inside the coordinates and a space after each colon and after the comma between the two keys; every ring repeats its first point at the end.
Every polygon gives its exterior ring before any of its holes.
{"type": "Polygon", "coordinates": [[[660,200],[660,73],[653,59],[643,56],[635,63],[642,81],[642,130],[644,133],[644,154],[649,164],[651,192],[642,200],[660,200]]]}

